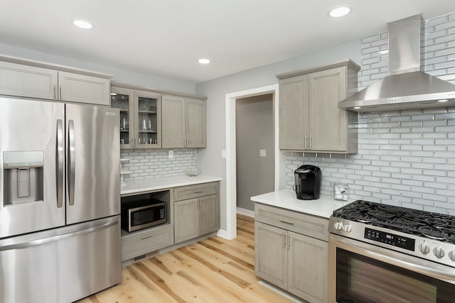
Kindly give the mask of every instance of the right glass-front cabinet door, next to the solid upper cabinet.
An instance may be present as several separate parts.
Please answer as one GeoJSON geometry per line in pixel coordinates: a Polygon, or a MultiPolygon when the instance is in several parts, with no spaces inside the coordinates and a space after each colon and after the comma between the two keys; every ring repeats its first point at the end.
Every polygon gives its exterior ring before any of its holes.
{"type": "Polygon", "coordinates": [[[161,147],[161,95],[152,92],[134,92],[137,105],[135,121],[137,127],[136,148],[161,147]]]}

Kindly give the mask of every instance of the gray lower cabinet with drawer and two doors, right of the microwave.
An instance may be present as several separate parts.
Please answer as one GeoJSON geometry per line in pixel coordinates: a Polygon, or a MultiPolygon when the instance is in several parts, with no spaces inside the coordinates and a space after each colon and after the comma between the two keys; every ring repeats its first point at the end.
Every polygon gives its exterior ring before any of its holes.
{"type": "Polygon", "coordinates": [[[176,187],[173,210],[175,243],[218,231],[219,182],[176,187]]]}

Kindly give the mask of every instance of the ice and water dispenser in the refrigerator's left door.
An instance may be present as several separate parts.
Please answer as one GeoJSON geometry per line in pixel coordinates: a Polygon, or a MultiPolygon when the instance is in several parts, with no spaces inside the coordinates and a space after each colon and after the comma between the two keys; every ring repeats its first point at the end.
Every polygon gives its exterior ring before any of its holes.
{"type": "Polygon", "coordinates": [[[43,200],[44,152],[4,151],[4,206],[43,200]]]}

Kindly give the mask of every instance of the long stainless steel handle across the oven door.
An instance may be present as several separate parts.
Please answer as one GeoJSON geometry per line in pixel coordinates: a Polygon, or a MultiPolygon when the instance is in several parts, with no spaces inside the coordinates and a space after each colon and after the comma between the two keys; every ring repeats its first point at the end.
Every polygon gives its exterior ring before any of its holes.
{"type": "Polygon", "coordinates": [[[413,272],[419,272],[422,275],[434,277],[435,279],[444,280],[454,284],[455,272],[447,270],[447,266],[434,263],[432,261],[419,259],[404,253],[398,253],[395,250],[388,250],[380,248],[371,244],[363,243],[360,241],[351,240],[349,238],[331,235],[329,245],[333,244],[337,248],[357,253],[358,255],[365,255],[366,257],[382,261],[384,263],[396,265],[400,268],[405,268],[413,272]],[[397,258],[400,255],[400,259],[397,258]],[[431,266],[432,268],[429,268],[431,266]]]}

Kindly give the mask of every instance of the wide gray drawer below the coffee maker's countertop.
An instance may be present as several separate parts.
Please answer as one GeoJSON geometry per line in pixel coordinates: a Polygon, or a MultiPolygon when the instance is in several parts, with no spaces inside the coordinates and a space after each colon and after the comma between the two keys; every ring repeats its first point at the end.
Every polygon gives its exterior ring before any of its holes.
{"type": "Polygon", "coordinates": [[[328,241],[328,219],[255,203],[255,220],[328,241]]]}

